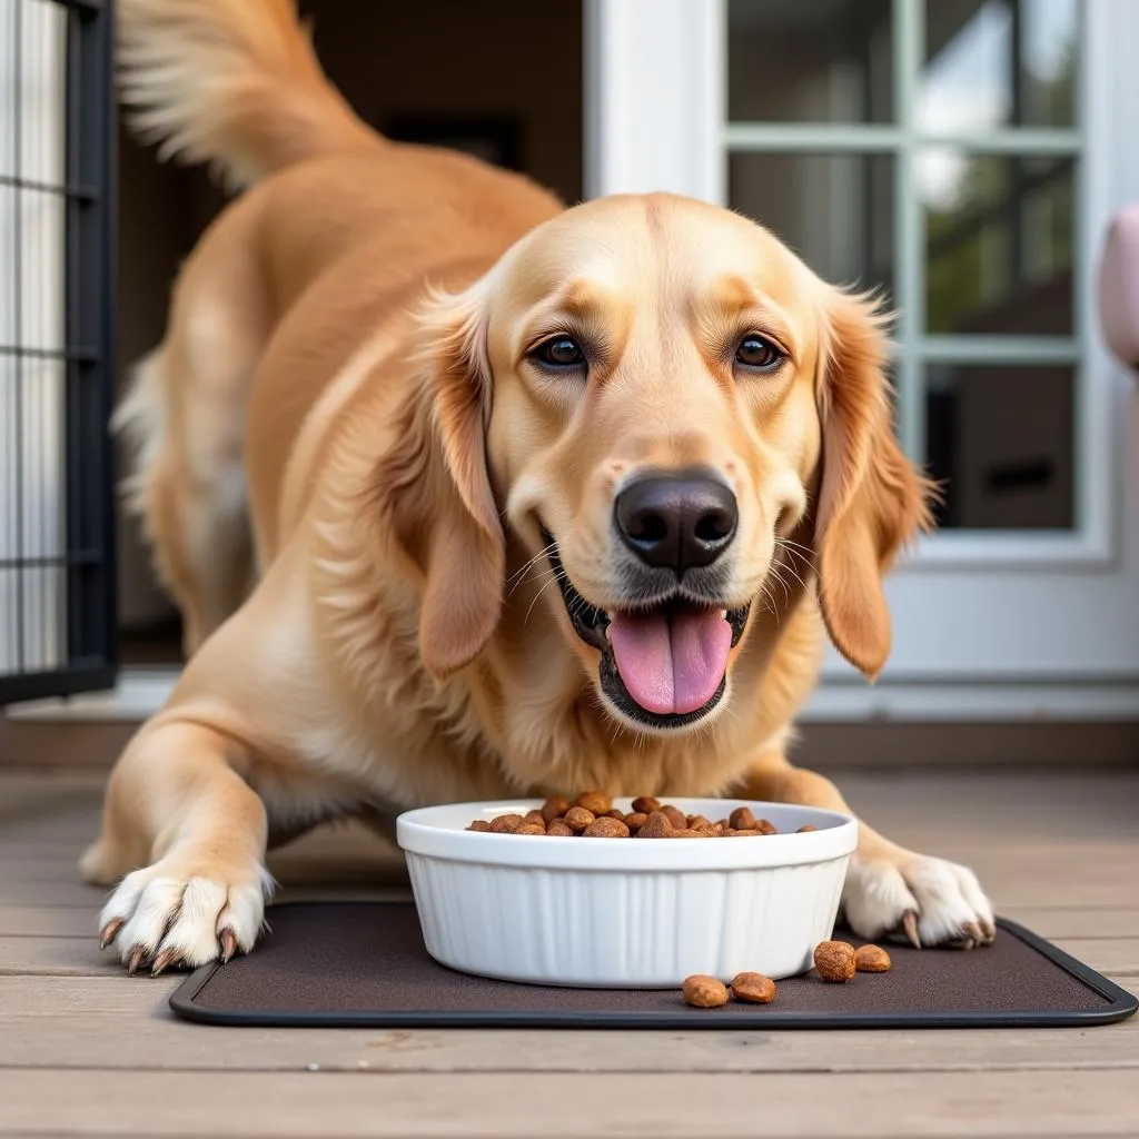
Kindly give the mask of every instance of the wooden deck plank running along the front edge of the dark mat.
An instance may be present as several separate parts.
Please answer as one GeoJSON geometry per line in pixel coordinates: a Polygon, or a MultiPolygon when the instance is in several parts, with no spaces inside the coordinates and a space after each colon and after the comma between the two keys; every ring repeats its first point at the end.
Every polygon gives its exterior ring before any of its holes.
{"type": "MultiPolygon", "coordinates": [[[[1089,1031],[544,1032],[220,1029],[177,1021],[179,978],[0,976],[0,1068],[302,1072],[1139,1070],[1139,1018],[1089,1031]],[[123,1027],[129,1025],[129,1031],[123,1027]],[[107,1047],[113,1042],[113,1047],[107,1047]]],[[[1139,1075],[1136,1076],[1139,1082],[1139,1075]]]]}

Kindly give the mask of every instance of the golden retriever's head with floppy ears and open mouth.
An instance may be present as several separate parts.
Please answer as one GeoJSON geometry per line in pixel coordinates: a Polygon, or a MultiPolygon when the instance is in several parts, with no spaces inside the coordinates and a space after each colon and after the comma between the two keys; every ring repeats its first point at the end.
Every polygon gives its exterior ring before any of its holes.
{"type": "Polygon", "coordinates": [[[427,666],[493,632],[505,525],[556,576],[541,604],[606,707],[640,729],[722,704],[792,534],[835,645],[876,674],[882,574],[927,494],[891,428],[882,326],[761,227],[666,195],[570,210],[436,296],[423,330],[462,511],[428,573],[427,666]]]}

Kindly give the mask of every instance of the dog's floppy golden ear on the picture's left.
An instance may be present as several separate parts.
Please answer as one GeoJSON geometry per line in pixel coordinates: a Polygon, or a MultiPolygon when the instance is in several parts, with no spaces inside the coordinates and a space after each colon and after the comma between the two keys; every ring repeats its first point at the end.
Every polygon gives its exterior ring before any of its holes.
{"type": "Polygon", "coordinates": [[[502,607],[506,546],[485,449],[485,289],[433,294],[417,319],[425,387],[395,451],[418,457],[418,472],[396,476],[398,530],[424,574],[420,656],[443,679],[474,659],[502,607]]]}

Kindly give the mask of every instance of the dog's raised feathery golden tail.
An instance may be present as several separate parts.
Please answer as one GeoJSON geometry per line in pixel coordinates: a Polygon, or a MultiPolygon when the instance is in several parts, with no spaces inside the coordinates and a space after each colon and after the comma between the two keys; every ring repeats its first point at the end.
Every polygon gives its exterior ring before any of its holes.
{"type": "Polygon", "coordinates": [[[325,77],[294,0],[120,0],[118,58],[138,132],[235,187],[383,145],[325,77]]]}

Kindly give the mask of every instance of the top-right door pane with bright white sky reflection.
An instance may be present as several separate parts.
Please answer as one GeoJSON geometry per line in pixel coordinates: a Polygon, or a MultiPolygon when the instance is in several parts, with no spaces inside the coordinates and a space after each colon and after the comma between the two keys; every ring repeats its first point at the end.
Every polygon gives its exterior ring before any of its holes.
{"type": "Polygon", "coordinates": [[[1071,126],[1079,15],[1077,0],[928,0],[918,125],[1071,126]]]}

